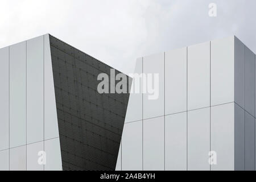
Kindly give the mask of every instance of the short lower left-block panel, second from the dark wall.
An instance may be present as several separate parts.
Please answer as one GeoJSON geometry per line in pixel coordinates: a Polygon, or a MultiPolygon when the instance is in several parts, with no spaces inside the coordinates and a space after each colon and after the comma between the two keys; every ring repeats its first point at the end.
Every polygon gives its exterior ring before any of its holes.
{"type": "MultiPolygon", "coordinates": [[[[27,145],[27,171],[43,171],[43,163],[39,164],[39,158],[43,158],[40,151],[44,151],[44,142],[32,143],[27,145]]],[[[47,157],[47,155],[46,155],[47,157]]]]}

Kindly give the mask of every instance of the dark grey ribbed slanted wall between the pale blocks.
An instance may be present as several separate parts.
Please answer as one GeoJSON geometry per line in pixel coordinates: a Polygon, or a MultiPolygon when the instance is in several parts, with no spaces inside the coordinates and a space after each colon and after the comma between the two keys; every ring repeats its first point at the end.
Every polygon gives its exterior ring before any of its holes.
{"type": "Polygon", "coordinates": [[[99,94],[97,76],[111,67],[49,39],[63,170],[114,170],[129,94],[99,94]]]}

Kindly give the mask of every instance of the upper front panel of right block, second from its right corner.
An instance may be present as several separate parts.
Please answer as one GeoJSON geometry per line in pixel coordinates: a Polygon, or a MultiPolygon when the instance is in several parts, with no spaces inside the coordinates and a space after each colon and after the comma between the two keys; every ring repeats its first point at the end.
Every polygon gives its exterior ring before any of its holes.
{"type": "Polygon", "coordinates": [[[210,42],[188,47],[188,110],[210,106],[210,42]]]}

